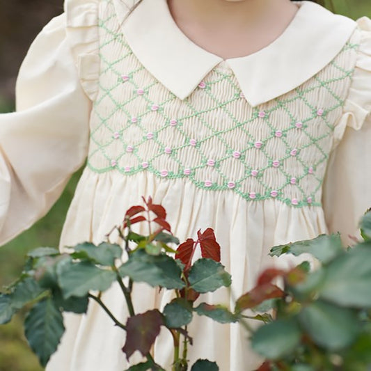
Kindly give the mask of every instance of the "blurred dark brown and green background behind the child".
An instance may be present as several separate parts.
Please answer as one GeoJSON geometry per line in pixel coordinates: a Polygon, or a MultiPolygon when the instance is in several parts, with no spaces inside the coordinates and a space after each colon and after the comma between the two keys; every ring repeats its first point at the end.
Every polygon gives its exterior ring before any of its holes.
{"type": "MultiPolygon", "coordinates": [[[[354,19],[371,17],[370,0],[333,0],[336,13],[354,19]]],[[[0,113],[14,109],[15,76],[26,49],[50,18],[62,11],[62,0],[0,0],[0,113]],[[22,26],[19,26],[22,25],[22,26]]],[[[63,220],[81,171],[76,173],[52,210],[38,223],[0,248],[0,287],[22,271],[27,251],[58,246],[63,220]]],[[[0,326],[0,371],[40,371],[23,336],[23,316],[0,326]]]]}

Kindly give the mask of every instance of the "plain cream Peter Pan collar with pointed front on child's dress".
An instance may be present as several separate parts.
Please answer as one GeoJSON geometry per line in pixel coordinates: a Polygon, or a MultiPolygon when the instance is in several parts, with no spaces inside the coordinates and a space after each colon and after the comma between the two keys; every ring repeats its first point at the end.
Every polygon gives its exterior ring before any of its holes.
{"type": "MultiPolygon", "coordinates": [[[[122,1],[113,2],[129,47],[181,100],[223,61],[180,31],[166,0],[143,0],[127,19],[122,1]]],[[[356,28],[352,19],[334,15],[317,3],[295,3],[299,10],[274,42],[249,56],[226,60],[251,106],[283,95],[313,77],[336,57],[356,28]]]]}

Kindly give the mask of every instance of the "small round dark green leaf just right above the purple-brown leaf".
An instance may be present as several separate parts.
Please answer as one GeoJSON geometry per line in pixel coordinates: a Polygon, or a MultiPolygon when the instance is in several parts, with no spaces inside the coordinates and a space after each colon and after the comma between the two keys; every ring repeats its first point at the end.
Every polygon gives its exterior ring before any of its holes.
{"type": "Polygon", "coordinates": [[[165,325],[169,329],[178,329],[191,322],[192,306],[186,299],[177,298],[166,304],[164,308],[165,325]]]}

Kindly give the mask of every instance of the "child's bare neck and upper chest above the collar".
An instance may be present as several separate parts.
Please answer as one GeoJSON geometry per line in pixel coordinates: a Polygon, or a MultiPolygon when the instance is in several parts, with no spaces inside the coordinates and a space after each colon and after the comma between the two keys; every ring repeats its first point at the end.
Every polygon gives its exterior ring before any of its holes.
{"type": "Polygon", "coordinates": [[[290,0],[168,0],[168,6],[189,39],[224,59],[269,45],[298,10],[290,0]]]}

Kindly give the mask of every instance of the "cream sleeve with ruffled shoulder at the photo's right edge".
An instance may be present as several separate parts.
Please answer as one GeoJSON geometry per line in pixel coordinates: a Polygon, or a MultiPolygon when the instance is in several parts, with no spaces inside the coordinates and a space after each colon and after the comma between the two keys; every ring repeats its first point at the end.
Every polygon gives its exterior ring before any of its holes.
{"type": "Polygon", "coordinates": [[[358,237],[358,221],[371,207],[371,19],[358,21],[358,56],[349,96],[336,127],[323,205],[329,232],[345,244],[358,237]]]}

